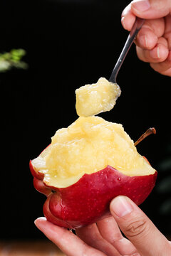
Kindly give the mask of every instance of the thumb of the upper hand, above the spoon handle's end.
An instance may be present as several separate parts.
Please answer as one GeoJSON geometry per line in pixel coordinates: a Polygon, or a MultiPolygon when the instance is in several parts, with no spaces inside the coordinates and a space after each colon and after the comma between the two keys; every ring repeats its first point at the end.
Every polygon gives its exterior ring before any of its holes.
{"type": "Polygon", "coordinates": [[[140,18],[162,18],[170,14],[170,0],[134,0],[131,11],[140,18]]]}

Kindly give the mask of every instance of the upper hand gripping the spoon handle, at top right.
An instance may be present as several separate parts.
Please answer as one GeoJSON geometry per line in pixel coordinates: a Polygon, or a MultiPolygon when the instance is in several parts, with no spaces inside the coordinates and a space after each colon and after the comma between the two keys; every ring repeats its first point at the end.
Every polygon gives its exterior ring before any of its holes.
{"type": "Polygon", "coordinates": [[[158,73],[171,76],[171,1],[131,1],[121,16],[126,30],[132,28],[135,16],[145,18],[135,40],[138,58],[158,73]]]}

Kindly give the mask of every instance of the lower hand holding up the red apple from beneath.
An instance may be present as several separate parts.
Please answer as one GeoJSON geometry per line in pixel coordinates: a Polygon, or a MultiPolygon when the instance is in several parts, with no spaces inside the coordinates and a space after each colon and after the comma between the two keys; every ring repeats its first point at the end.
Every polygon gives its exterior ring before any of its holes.
{"type": "Polygon", "coordinates": [[[170,241],[130,198],[114,198],[110,213],[111,217],[76,229],[76,235],[46,218],[35,224],[68,256],[170,256],[170,241]]]}

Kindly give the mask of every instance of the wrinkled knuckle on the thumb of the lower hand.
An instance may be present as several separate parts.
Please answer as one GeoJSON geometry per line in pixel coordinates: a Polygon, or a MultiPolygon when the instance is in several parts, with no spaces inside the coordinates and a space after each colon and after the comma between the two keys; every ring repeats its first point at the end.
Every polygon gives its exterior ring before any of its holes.
{"type": "Polygon", "coordinates": [[[135,220],[128,225],[125,232],[130,238],[145,235],[148,232],[147,221],[145,219],[135,220]]]}

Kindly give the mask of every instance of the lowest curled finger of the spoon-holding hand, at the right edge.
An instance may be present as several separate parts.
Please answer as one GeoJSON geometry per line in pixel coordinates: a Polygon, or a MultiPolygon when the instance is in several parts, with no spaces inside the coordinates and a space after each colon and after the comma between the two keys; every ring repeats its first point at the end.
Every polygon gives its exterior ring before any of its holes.
{"type": "Polygon", "coordinates": [[[171,50],[165,61],[162,63],[150,63],[151,68],[162,75],[171,76],[171,50]]]}

